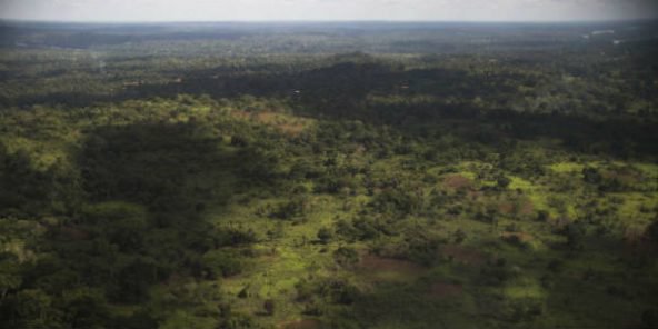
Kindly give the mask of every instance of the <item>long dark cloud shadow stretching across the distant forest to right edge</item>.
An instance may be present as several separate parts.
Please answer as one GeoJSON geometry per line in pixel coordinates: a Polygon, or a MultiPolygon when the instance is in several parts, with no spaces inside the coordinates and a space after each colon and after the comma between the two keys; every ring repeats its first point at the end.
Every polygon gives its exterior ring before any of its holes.
{"type": "MultiPolygon", "coordinates": [[[[170,98],[180,93],[233,98],[241,94],[288,99],[299,114],[333,120],[361,120],[396,127],[417,134],[435,126],[456,133],[465,142],[500,144],[506,140],[557,139],[566,149],[579,153],[604,153],[617,158],[654,159],[658,153],[656,122],[622,114],[594,119],[587,114],[517,112],[505,108],[485,109],[469,102],[475,97],[516,97],[510,79],[522,77],[469,76],[462,70],[402,70],[368,61],[340,62],[330,67],[293,73],[225,72],[222,69],[185,73],[179,83],[128,87],[112,96],[56,93],[7,100],[14,104],[63,103],[89,106],[128,99],[170,98]],[[299,92],[299,93],[298,93],[299,92]],[[415,94],[431,96],[423,103],[400,101],[378,104],[368,96],[387,94],[403,100],[415,94]],[[440,99],[463,100],[447,104],[440,99]]],[[[516,81],[516,80],[515,80],[516,81]]]]}

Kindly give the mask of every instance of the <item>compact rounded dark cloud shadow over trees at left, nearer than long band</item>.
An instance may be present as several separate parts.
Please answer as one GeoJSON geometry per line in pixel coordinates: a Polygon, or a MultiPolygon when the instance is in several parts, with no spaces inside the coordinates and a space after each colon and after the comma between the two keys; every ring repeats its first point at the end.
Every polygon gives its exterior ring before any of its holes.
{"type": "Polygon", "coordinates": [[[230,161],[212,139],[196,136],[200,129],[142,123],[94,131],[80,157],[86,190],[94,200],[123,199],[158,212],[192,215],[198,198],[210,196],[190,181],[230,161]]]}

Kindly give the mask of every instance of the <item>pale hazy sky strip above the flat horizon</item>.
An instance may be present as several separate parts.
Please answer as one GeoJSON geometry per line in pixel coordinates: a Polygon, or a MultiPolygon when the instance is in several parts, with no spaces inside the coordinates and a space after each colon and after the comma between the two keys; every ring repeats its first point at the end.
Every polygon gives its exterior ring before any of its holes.
{"type": "Polygon", "coordinates": [[[658,0],[0,0],[0,18],[64,21],[657,18],[658,0]]]}

